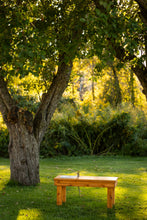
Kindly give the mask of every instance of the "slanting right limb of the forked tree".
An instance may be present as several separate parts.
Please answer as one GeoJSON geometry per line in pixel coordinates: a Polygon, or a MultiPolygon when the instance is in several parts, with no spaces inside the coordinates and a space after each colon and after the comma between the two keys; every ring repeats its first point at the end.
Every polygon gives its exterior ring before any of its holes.
{"type": "Polygon", "coordinates": [[[39,142],[42,141],[58,101],[68,85],[71,70],[72,62],[65,64],[64,61],[62,61],[48,92],[42,96],[40,107],[34,119],[34,132],[39,142]]]}

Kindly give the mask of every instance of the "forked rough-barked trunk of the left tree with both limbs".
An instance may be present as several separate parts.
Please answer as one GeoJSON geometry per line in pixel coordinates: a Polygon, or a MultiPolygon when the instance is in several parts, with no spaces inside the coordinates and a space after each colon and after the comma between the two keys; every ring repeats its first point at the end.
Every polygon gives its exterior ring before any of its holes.
{"type": "Polygon", "coordinates": [[[52,115],[68,85],[72,62],[64,62],[33,115],[19,109],[11,98],[6,82],[0,78],[0,110],[9,130],[10,179],[22,185],[36,185],[39,179],[39,147],[52,115]]]}

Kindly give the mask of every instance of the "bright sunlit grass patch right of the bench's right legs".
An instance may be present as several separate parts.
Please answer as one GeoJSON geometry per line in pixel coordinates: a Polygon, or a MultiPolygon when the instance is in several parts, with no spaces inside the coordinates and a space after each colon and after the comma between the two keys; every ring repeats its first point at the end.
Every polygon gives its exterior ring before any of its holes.
{"type": "MultiPolygon", "coordinates": [[[[146,203],[147,193],[145,192],[145,183],[140,184],[142,175],[138,176],[121,175],[120,177],[120,184],[118,183],[115,189],[116,217],[118,219],[126,219],[127,217],[131,219],[132,216],[141,219],[142,205],[146,203]]],[[[144,210],[144,215],[146,214],[144,210]]]]}

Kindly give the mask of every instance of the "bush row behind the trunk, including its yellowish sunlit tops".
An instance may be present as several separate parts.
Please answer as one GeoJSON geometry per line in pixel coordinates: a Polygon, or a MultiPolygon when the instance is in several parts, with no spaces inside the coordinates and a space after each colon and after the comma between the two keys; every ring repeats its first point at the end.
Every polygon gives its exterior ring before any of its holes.
{"type": "MultiPolygon", "coordinates": [[[[57,155],[122,154],[147,156],[144,112],[121,107],[79,107],[64,100],[58,106],[41,143],[41,157],[57,155]],[[90,112],[91,111],[91,112],[90,112]]],[[[0,156],[8,157],[8,131],[0,130],[0,156]]]]}

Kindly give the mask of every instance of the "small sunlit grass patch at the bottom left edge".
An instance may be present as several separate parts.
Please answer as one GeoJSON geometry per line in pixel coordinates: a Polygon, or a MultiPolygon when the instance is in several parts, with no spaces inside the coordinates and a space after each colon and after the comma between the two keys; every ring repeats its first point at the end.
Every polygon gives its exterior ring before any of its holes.
{"type": "Polygon", "coordinates": [[[18,213],[16,220],[43,220],[43,216],[38,209],[21,209],[18,213]]]}

